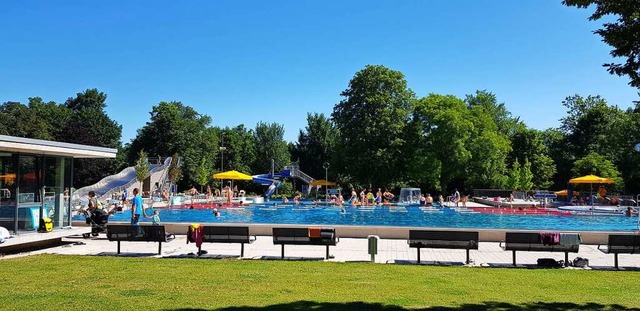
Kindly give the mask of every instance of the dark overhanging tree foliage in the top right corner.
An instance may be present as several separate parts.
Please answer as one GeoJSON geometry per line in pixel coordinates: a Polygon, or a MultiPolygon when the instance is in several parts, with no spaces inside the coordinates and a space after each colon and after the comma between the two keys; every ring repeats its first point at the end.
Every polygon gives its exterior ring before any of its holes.
{"type": "Polygon", "coordinates": [[[626,57],[626,62],[602,65],[610,74],[628,76],[629,85],[640,88],[640,3],[637,0],[564,0],[564,5],[596,10],[589,20],[597,21],[605,16],[616,16],[615,22],[606,22],[594,31],[602,41],[613,47],[610,54],[616,58],[626,57]]]}

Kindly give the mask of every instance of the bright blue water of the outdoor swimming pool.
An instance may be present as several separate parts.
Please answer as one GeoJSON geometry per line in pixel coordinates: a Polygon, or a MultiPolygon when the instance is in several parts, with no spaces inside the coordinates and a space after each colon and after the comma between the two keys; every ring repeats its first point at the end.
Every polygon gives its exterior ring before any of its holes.
{"type": "MultiPolygon", "coordinates": [[[[366,209],[328,206],[254,205],[245,208],[211,210],[158,209],[162,222],[228,223],[228,224],[313,224],[357,226],[407,226],[437,228],[531,229],[580,231],[633,231],[637,217],[625,216],[531,216],[501,214],[466,214],[444,209],[424,212],[418,206],[370,207],[366,209]]],[[[153,212],[147,209],[147,214],[153,212]]],[[[76,216],[82,220],[81,216],[76,216]]],[[[118,213],[109,221],[128,222],[129,211],[118,213]]],[[[150,219],[143,219],[150,222],[150,219]]]]}

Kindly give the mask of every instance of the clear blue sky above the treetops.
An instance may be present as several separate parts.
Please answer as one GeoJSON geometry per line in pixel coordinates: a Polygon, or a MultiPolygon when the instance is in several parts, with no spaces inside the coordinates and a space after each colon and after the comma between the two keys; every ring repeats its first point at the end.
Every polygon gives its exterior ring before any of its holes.
{"type": "Polygon", "coordinates": [[[160,101],[213,125],[285,126],[329,115],[367,64],[399,70],[418,95],[486,89],[537,129],[557,127],[562,100],[600,94],[626,108],[626,77],[591,10],[561,1],[3,1],[0,102],[108,94],[123,142],[160,101]]]}

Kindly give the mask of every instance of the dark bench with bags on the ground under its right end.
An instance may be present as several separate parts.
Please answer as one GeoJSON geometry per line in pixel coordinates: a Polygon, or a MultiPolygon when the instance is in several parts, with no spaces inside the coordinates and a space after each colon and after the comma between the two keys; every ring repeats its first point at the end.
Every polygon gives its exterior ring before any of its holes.
{"type": "Polygon", "coordinates": [[[516,251],[526,252],[563,252],[564,264],[569,265],[569,253],[577,253],[580,249],[580,235],[578,233],[560,233],[576,235],[577,244],[544,244],[540,241],[540,233],[537,232],[507,232],[504,241],[500,241],[500,247],[505,251],[513,251],[513,265],[516,265],[516,251]]]}

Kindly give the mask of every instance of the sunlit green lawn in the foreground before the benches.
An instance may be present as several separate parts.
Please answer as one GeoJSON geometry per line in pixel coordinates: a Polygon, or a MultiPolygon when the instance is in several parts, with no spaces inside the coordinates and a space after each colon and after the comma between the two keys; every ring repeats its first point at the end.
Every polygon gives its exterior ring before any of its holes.
{"type": "Polygon", "coordinates": [[[640,272],[39,255],[6,310],[640,310],[640,272]]]}

